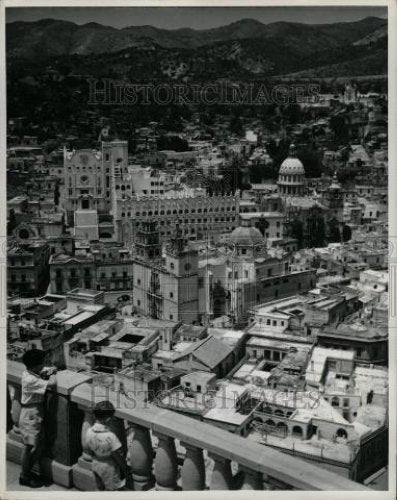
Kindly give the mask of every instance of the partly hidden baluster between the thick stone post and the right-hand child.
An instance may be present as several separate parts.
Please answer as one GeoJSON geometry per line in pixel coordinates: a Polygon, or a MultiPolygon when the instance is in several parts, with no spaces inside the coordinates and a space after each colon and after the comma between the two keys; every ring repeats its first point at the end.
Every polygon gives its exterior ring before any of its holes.
{"type": "Polygon", "coordinates": [[[77,464],[73,466],[73,485],[82,491],[94,491],[97,489],[94,473],[92,467],[92,455],[87,448],[86,434],[88,429],[94,423],[94,415],[92,409],[79,406],[84,412],[84,421],[81,427],[81,457],[78,459],[77,464]]]}

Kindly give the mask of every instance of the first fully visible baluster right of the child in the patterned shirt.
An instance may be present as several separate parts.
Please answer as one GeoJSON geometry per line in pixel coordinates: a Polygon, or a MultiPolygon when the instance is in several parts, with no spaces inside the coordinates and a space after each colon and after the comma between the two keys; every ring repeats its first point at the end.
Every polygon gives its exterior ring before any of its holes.
{"type": "Polygon", "coordinates": [[[150,489],[154,484],[153,447],[150,430],[141,425],[130,423],[133,432],[129,447],[129,461],[136,491],[150,489]]]}

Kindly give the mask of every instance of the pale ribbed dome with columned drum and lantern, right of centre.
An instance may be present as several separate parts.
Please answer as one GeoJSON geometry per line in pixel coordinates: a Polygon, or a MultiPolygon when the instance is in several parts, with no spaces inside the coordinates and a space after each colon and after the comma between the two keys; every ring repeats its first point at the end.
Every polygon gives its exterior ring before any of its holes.
{"type": "Polygon", "coordinates": [[[295,156],[295,146],[290,147],[288,158],[281,164],[277,182],[281,196],[303,196],[305,190],[305,169],[295,156]]]}

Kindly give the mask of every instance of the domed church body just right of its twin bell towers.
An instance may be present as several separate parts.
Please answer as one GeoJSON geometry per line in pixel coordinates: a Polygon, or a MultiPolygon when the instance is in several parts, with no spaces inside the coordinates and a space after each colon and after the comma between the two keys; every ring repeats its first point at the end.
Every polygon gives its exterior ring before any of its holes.
{"type": "Polygon", "coordinates": [[[236,228],[228,249],[202,258],[199,269],[201,319],[226,315],[232,324],[245,324],[248,309],[313,288],[315,270],[291,272],[288,253],[267,252],[266,239],[252,226],[236,228]]]}

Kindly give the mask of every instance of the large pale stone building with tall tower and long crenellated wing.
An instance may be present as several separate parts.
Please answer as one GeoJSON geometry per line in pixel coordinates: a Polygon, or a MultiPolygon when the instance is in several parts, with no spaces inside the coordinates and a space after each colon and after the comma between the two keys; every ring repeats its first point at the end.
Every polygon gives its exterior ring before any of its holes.
{"type": "MultiPolygon", "coordinates": [[[[129,166],[127,147],[126,141],[112,141],[102,142],[101,151],[65,150],[62,200],[70,225],[75,211],[97,212],[99,224],[101,216],[112,215],[118,241],[129,243],[152,217],[161,240],[172,237],[177,220],[190,240],[216,238],[236,227],[238,194],[208,197],[200,188],[173,189],[177,179],[169,172],[129,166]]],[[[77,234],[95,235],[95,224],[89,226],[77,234]]]]}

